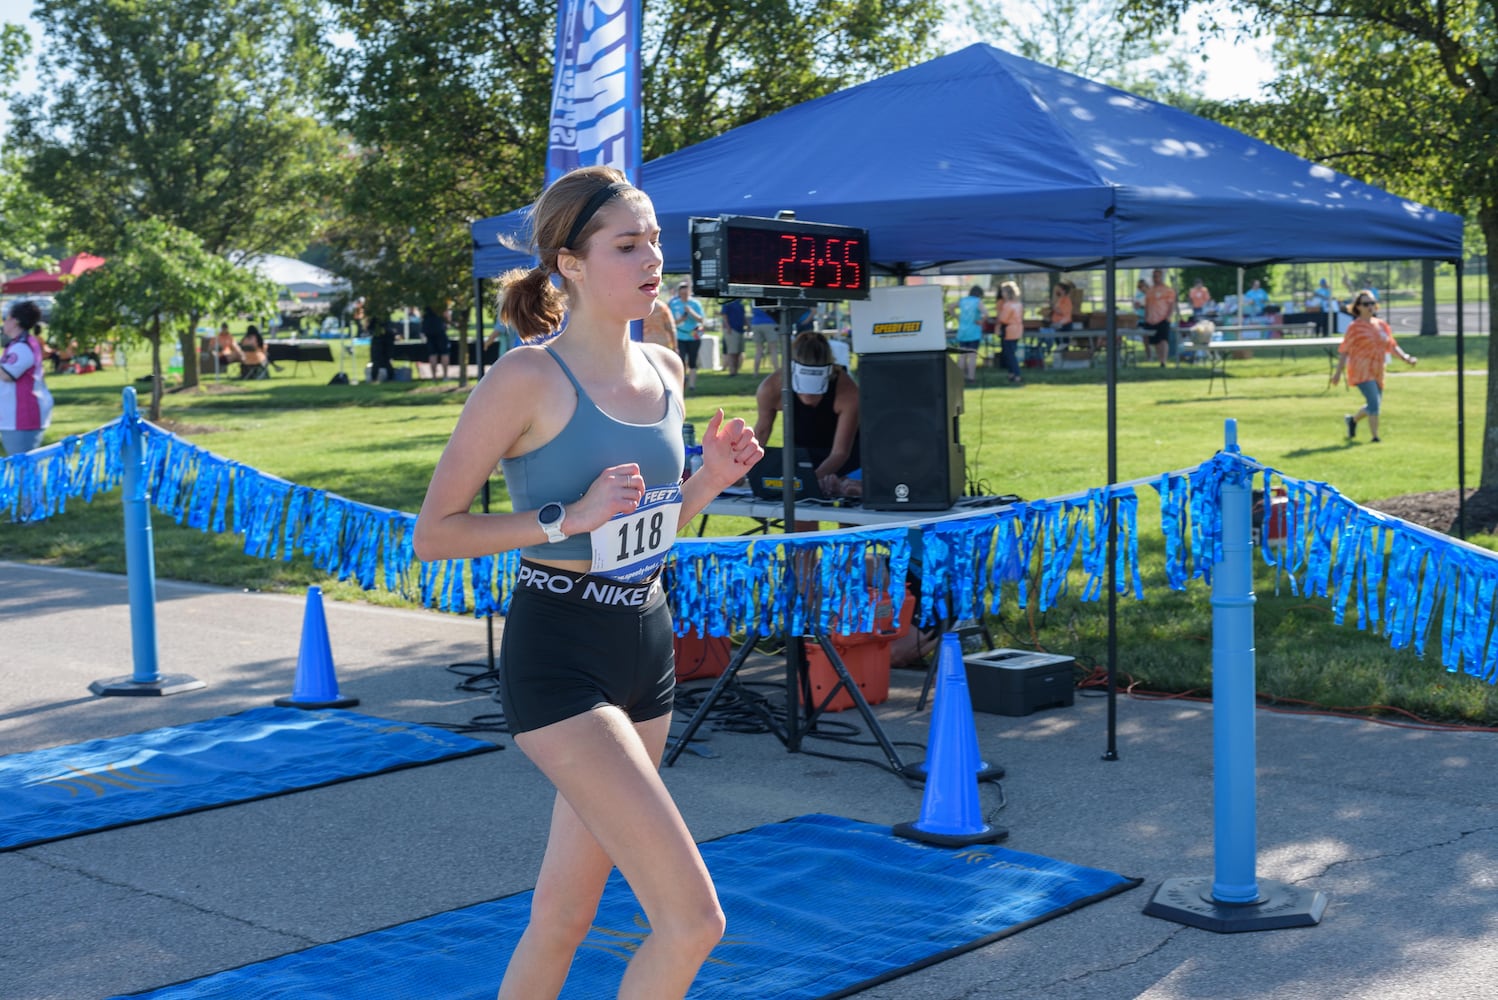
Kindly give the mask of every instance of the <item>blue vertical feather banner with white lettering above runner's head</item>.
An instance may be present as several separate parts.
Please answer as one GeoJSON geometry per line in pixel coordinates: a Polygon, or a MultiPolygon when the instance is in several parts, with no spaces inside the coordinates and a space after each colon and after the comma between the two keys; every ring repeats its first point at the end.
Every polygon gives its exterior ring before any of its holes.
{"type": "Polygon", "coordinates": [[[580,166],[640,183],[640,0],[557,0],[547,184],[580,166]]]}

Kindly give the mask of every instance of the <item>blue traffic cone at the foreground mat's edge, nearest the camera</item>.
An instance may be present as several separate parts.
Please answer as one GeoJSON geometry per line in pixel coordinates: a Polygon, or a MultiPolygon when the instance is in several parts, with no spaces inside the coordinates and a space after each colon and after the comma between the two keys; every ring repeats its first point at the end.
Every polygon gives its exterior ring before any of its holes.
{"type": "Polygon", "coordinates": [[[968,671],[962,663],[962,639],[956,632],[941,638],[936,660],[936,707],[926,741],[930,756],[921,795],[921,817],[897,823],[896,837],[941,847],[992,844],[1010,831],[983,822],[978,802],[978,732],[972,722],[968,671]]]}

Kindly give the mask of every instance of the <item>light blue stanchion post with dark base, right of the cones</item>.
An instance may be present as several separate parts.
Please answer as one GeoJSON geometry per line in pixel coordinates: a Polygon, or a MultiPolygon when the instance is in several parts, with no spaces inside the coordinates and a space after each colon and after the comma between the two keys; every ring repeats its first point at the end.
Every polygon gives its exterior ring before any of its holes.
{"type": "MultiPolygon", "coordinates": [[[[1237,421],[1227,421],[1224,439],[1225,451],[1237,454],[1237,421]]],[[[1224,476],[1219,503],[1222,558],[1212,567],[1213,877],[1167,879],[1144,913],[1224,934],[1306,927],[1321,921],[1326,895],[1255,873],[1254,500],[1246,472],[1224,476]]]]}

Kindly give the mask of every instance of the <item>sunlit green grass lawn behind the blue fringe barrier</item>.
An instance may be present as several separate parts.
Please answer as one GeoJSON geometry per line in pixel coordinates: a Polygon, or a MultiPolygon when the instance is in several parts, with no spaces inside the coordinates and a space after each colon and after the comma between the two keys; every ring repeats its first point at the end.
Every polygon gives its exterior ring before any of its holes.
{"type": "MultiPolygon", "coordinates": [[[[1300,479],[1336,487],[1356,501],[1407,493],[1453,490],[1456,472],[1455,340],[1407,338],[1420,356],[1410,374],[1393,362],[1384,401],[1383,443],[1366,431],[1348,442],[1342,415],[1360,397],[1327,386],[1327,361],[1296,352],[1230,362],[1227,392],[1207,391],[1201,367],[1128,367],[1118,397],[1118,470],[1121,481],[1186,469],[1222,446],[1224,421],[1237,421],[1248,455],[1300,479]]],[[[1468,338],[1470,367],[1480,368],[1486,340],[1468,338]]],[[[363,377],[364,356],[346,370],[363,377]]],[[[291,376],[285,365],[268,382],[213,382],[166,397],[163,425],[219,455],[265,473],[352,500],[415,512],[446,437],[466,398],[455,382],[330,386],[336,367],[319,364],[291,376]]],[[[132,374],[139,374],[132,371],[132,374]]],[[[1055,497],[1107,481],[1103,370],[1026,371],[1028,385],[1004,385],[984,368],[968,389],[962,439],[969,479],[987,493],[1025,499],[1055,497]]],[[[118,371],[51,379],[57,412],[48,440],[90,431],[120,413],[127,377],[118,371]]],[[[704,425],[715,409],[753,418],[758,377],[703,373],[686,400],[688,419],[704,425]]],[[[1467,377],[1467,482],[1477,484],[1486,374],[1467,377]]],[[[144,406],[142,406],[144,409],[144,406]]],[[[773,442],[771,442],[773,443],[773,442]]],[[[1125,684],[1162,692],[1210,692],[1210,593],[1192,582],[1185,593],[1164,584],[1162,539],[1153,491],[1140,490],[1141,560],[1146,600],[1119,600],[1119,671],[1125,684]]],[[[493,503],[508,501],[503,481],[493,503]]],[[[37,525],[0,528],[0,558],[42,564],[124,570],[118,493],[37,525]]],[[[153,516],[157,575],[247,590],[297,593],[319,584],[330,597],[398,603],[383,593],[324,578],[306,558],[255,560],[234,536],[181,528],[153,516]]],[[[713,534],[745,527],[713,518],[713,534]]],[[[1473,539],[1498,549],[1498,537],[1473,539]]],[[[1275,593],[1272,570],[1257,582],[1257,669],[1264,695],[1335,707],[1390,705],[1423,717],[1498,725],[1498,696],[1474,678],[1447,674],[1438,644],[1422,660],[1389,650],[1377,633],[1332,624],[1324,599],[1275,593]]],[[[1106,662],[1101,602],[1064,599],[1047,614],[1005,606],[990,620],[1001,645],[1076,656],[1083,669],[1106,662]]]]}

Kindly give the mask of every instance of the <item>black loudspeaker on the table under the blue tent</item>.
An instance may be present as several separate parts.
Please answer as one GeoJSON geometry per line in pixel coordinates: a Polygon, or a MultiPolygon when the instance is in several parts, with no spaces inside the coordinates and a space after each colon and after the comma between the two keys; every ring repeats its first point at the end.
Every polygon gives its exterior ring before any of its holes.
{"type": "Polygon", "coordinates": [[[945,352],[860,355],[863,506],[945,510],[962,496],[962,373],[945,352]]]}

